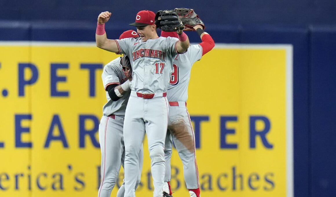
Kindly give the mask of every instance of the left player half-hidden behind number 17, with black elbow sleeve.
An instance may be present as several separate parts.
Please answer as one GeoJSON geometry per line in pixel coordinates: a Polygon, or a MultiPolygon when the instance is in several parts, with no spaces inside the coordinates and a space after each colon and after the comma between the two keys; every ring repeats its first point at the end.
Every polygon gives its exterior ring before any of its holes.
{"type": "MultiPolygon", "coordinates": [[[[122,33],[119,39],[137,38],[139,35],[128,30],[122,33]]],[[[123,136],[124,116],[128,98],[130,95],[129,71],[123,72],[122,66],[127,66],[127,56],[118,57],[104,66],[101,78],[106,90],[107,103],[103,107],[103,116],[99,124],[99,142],[101,150],[101,184],[98,197],[110,197],[117,182],[120,165],[124,167],[125,145],[123,136]]],[[[143,149],[139,153],[139,171],[136,178],[135,189],[140,183],[143,161],[143,149]]],[[[117,193],[117,197],[124,197],[124,183],[117,193]]]]}

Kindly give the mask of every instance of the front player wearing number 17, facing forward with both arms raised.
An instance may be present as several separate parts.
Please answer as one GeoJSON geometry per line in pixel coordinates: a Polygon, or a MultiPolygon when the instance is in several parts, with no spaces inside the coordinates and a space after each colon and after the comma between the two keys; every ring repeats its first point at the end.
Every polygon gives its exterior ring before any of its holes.
{"type": "Polygon", "coordinates": [[[125,197],[135,197],[139,150],[145,133],[151,158],[153,196],[162,197],[166,167],[164,144],[168,124],[166,91],[173,71],[173,59],[178,53],[187,50],[189,39],[180,29],[178,39],[158,37],[155,13],[142,10],[137,13],[135,23],[130,24],[136,26],[140,38],[109,40],[104,23],[110,16],[110,12],[102,12],[98,16],[97,47],[128,55],[133,69],[124,121],[125,197]]]}

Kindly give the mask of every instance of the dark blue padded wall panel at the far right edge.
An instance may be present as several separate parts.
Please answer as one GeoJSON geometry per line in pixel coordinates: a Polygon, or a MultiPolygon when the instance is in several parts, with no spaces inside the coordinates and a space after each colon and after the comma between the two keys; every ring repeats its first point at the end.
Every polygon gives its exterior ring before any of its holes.
{"type": "Polygon", "coordinates": [[[310,46],[311,194],[336,196],[336,27],[313,26],[310,46]]]}

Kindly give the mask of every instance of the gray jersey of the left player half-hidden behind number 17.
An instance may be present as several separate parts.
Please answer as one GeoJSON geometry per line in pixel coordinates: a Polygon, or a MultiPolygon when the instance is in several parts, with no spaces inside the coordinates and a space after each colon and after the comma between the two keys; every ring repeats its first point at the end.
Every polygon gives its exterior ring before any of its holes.
{"type": "MultiPolygon", "coordinates": [[[[120,85],[127,80],[120,65],[120,60],[121,57],[118,57],[104,66],[101,78],[105,89],[108,85],[120,85]]],[[[130,92],[131,91],[127,91],[125,95],[121,97],[118,101],[112,101],[109,96],[109,92],[106,92],[106,99],[108,102],[103,107],[103,115],[109,116],[111,114],[114,114],[124,117],[130,92]]]]}

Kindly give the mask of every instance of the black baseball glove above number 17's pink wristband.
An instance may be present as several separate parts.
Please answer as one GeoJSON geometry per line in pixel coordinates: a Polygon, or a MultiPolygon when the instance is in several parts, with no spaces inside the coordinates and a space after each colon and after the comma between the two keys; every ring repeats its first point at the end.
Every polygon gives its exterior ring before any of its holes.
{"type": "Polygon", "coordinates": [[[155,25],[165,32],[178,32],[184,25],[174,10],[160,10],[155,15],[155,25]]]}

